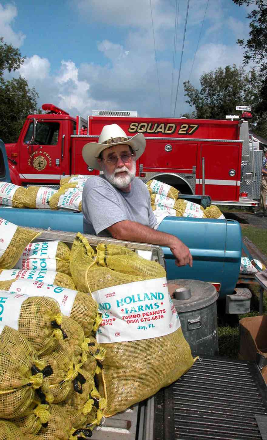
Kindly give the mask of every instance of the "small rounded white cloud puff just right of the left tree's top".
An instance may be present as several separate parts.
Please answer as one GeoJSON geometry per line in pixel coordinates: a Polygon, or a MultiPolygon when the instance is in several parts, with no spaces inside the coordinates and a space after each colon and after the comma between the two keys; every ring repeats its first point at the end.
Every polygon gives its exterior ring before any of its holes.
{"type": "Polygon", "coordinates": [[[32,57],[25,59],[19,73],[27,81],[36,82],[47,78],[49,70],[50,62],[47,58],[40,58],[38,55],[33,55],[32,57]]]}

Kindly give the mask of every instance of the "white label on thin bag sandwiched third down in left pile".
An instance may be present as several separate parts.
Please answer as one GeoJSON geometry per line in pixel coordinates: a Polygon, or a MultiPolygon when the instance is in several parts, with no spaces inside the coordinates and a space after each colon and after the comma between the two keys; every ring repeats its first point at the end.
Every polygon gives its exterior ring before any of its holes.
{"type": "Polygon", "coordinates": [[[4,269],[0,273],[0,281],[9,279],[29,279],[32,281],[46,282],[53,284],[58,272],[54,271],[25,271],[23,269],[4,269]]]}

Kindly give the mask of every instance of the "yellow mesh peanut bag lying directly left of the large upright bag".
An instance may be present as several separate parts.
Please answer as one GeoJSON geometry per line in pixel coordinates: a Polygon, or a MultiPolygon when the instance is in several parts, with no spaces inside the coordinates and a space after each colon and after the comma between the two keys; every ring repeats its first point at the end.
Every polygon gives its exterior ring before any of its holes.
{"type": "Polygon", "coordinates": [[[29,279],[0,281],[0,289],[23,293],[30,297],[40,296],[47,300],[54,298],[53,301],[60,307],[61,313],[77,321],[83,327],[86,336],[96,331],[101,323],[97,302],[87,293],[29,279]]]}

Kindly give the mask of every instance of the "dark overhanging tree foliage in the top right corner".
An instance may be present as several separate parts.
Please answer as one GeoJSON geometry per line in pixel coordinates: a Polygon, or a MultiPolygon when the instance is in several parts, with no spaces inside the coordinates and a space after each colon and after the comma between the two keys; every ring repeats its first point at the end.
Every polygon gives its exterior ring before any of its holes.
{"type": "Polygon", "coordinates": [[[243,38],[238,39],[237,43],[245,49],[243,63],[255,63],[261,77],[261,84],[258,90],[259,99],[255,107],[256,112],[266,118],[267,112],[267,2],[266,0],[233,0],[238,6],[255,5],[247,18],[249,23],[249,38],[245,42],[243,38]]]}

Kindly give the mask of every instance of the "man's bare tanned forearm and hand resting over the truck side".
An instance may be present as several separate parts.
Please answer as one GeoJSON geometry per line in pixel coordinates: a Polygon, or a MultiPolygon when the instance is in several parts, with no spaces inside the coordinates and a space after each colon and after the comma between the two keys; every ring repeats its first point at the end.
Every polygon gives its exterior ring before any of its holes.
{"type": "Polygon", "coordinates": [[[108,227],[113,238],[132,242],[151,243],[167,246],[176,257],[177,266],[192,266],[192,256],[187,246],[174,235],[156,231],[149,226],[131,220],[123,220],[108,227]]]}

